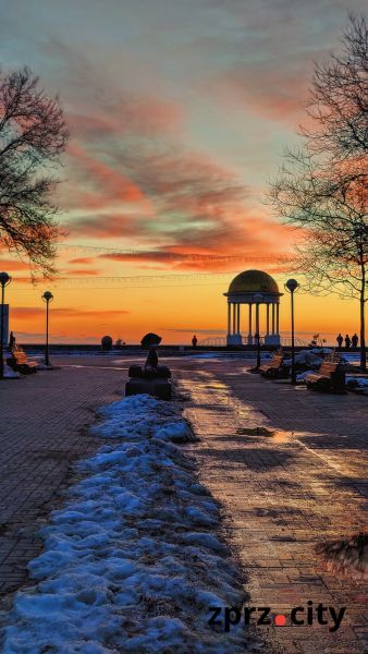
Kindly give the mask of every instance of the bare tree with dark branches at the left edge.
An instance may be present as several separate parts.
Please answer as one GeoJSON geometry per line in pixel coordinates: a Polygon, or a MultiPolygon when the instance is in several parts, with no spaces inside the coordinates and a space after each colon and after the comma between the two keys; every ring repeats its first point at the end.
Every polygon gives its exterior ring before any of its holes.
{"type": "Polygon", "coordinates": [[[68,137],[59,99],[29,69],[0,72],[0,240],[45,275],[54,271],[59,234],[50,170],[68,137]]]}

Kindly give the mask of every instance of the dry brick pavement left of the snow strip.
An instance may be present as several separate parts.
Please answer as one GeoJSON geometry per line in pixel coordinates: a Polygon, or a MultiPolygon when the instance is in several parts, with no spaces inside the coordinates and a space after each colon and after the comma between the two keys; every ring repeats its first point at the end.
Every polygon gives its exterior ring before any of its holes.
{"type": "Polygon", "coordinates": [[[123,373],[61,368],[0,383],[0,597],[26,580],[36,535],[74,461],[101,445],[95,409],[121,397],[123,373]]]}

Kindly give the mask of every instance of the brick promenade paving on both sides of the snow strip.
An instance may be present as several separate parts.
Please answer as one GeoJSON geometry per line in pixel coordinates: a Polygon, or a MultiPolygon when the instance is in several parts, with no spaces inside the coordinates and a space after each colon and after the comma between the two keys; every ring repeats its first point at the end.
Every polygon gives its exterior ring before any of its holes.
{"type": "MultiPolygon", "coordinates": [[[[0,385],[3,597],[26,580],[26,564],[40,547],[36,530],[60,504],[57,492],[70,482],[72,463],[100,446],[88,425],[98,405],[122,396],[130,363],[98,356],[54,362],[68,367],[0,385]]],[[[266,382],[241,359],[168,363],[199,437],[186,447],[200,482],[223,507],[225,537],[248,573],[250,606],[285,615],[308,601],[346,607],[334,632],[315,622],[260,627],[260,633],[275,652],[361,654],[364,584],[329,573],[315,545],[367,524],[366,398],[266,382]],[[277,433],[257,434],[257,427],[277,433]]]]}

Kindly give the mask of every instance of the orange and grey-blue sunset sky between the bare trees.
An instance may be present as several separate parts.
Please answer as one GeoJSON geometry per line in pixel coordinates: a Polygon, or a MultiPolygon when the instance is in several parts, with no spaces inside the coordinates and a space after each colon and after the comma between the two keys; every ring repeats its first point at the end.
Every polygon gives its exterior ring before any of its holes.
{"type": "MultiPolygon", "coordinates": [[[[348,12],[366,0],[0,8],[2,69],[29,65],[59,94],[71,132],[58,189],[61,279],[33,287],[28,264],[0,252],[19,341],[44,339],[46,288],[53,342],[136,342],[152,330],[167,343],[224,334],[222,293],[242,270],[267,270],[282,290],[290,275],[278,259],[296,234],[265,205],[268,181],[298,142],[314,62],[340,47],[348,12]]],[[[284,331],[289,319],[284,298],[284,331]]],[[[352,334],[358,304],[299,293],[296,327],[352,334]]]]}

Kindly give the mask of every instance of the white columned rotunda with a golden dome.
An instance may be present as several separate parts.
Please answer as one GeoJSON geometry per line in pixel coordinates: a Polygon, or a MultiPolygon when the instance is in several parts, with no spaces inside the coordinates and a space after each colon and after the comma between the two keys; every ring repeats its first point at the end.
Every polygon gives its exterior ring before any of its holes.
{"type": "Polygon", "coordinates": [[[261,306],[266,306],[266,325],[263,323],[265,344],[280,346],[280,293],[275,280],[262,270],[245,270],[232,280],[228,293],[228,346],[242,346],[241,305],[248,305],[248,331],[246,342],[257,342],[256,335],[261,335],[261,306]],[[255,306],[255,325],[253,326],[253,307],[255,306]]]}

